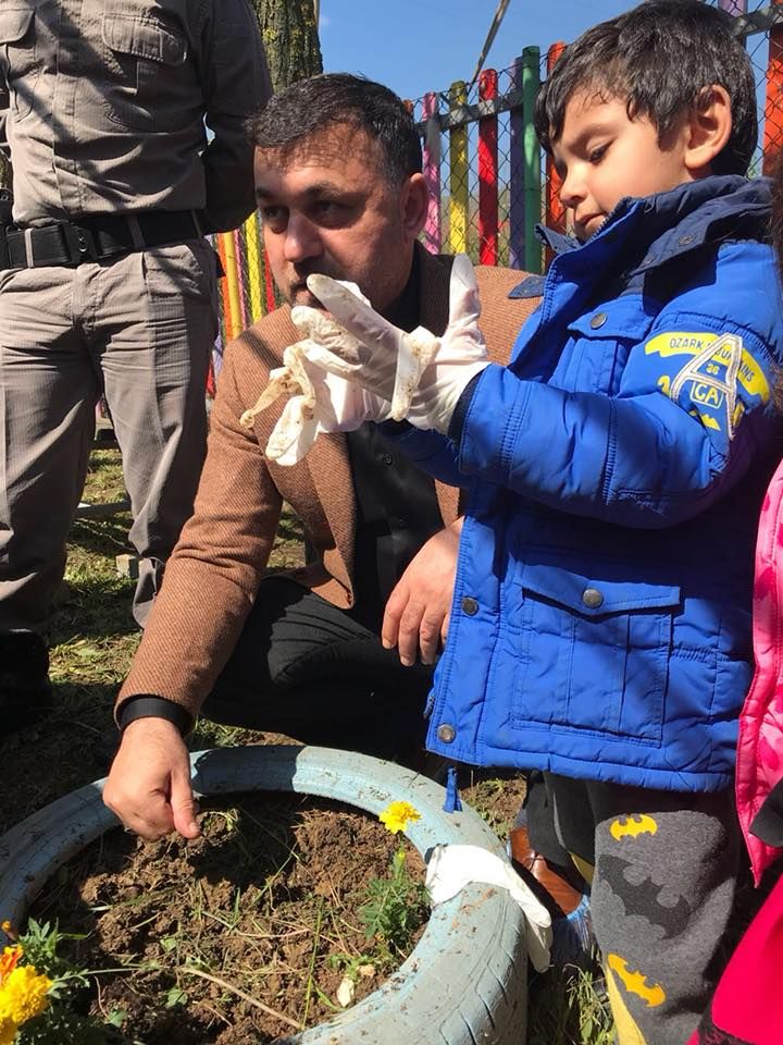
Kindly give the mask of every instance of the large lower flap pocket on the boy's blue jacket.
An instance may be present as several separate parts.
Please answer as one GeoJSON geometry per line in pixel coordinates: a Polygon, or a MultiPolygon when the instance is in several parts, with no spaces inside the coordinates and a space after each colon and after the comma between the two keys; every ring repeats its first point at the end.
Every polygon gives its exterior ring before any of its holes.
{"type": "Polygon", "coordinates": [[[523,568],[512,718],[657,743],[680,588],[606,573],[523,568]]]}

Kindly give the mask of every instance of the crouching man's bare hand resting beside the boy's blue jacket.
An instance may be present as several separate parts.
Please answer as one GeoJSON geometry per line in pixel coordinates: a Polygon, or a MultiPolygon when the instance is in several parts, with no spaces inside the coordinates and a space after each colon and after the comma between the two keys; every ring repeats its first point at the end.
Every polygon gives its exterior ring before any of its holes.
{"type": "Polygon", "coordinates": [[[389,595],[381,627],[387,650],[397,647],[400,662],[410,667],[417,654],[434,664],[446,641],[462,519],[439,530],[411,560],[389,595]]]}

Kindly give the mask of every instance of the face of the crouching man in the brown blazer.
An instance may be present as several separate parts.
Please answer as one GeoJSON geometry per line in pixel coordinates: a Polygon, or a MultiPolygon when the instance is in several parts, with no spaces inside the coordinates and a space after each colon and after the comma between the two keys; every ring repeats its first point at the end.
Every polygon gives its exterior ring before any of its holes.
{"type": "Polygon", "coordinates": [[[413,241],[408,182],[389,184],[378,144],[334,124],[287,150],[256,150],[256,192],[264,246],[291,305],[319,303],[307,288],[319,272],[359,285],[384,310],[401,294],[413,241]]]}

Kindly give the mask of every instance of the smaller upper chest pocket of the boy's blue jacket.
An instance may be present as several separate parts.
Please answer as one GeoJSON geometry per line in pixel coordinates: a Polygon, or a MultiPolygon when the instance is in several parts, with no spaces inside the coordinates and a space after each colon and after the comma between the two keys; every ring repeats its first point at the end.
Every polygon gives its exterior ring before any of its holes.
{"type": "Polygon", "coordinates": [[[595,309],[580,316],[568,329],[554,384],[566,392],[602,392],[614,395],[631,348],[643,341],[651,319],[635,309],[614,314],[595,309]]]}

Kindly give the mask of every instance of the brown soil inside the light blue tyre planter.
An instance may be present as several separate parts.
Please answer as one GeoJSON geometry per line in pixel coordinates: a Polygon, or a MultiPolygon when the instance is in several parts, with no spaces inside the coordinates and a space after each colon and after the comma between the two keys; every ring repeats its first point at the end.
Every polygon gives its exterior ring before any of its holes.
{"type": "Polygon", "coordinates": [[[127,970],[97,976],[91,1011],[124,1012],[128,1041],[274,1042],[340,1011],[347,972],[356,1003],[401,963],[406,955],[391,961],[394,948],[368,939],[358,915],[400,844],[411,878],[423,881],[421,858],[401,836],[356,809],[290,795],[210,801],[200,820],[203,835],[190,843],[110,832],[61,870],[32,911],[87,934],[61,945],[75,964],[127,970]]]}

